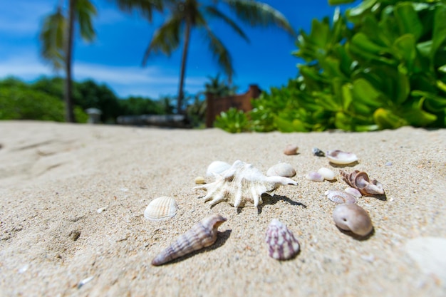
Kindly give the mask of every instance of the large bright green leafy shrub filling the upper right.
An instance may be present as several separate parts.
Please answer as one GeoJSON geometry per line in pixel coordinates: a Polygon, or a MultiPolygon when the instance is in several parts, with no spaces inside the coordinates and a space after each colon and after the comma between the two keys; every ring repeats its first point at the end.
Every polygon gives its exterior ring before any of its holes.
{"type": "Polygon", "coordinates": [[[365,0],[314,19],[296,42],[299,78],[253,101],[252,129],[445,127],[445,19],[435,0],[365,0]]]}

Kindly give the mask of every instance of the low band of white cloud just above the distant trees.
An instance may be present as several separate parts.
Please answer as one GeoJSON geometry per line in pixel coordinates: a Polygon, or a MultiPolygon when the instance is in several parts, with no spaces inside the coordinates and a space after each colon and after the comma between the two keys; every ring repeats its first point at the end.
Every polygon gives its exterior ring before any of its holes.
{"type": "MultiPolygon", "coordinates": [[[[41,75],[53,74],[51,68],[32,53],[6,57],[0,61],[0,78],[14,75],[30,81],[41,75]]],[[[178,88],[177,71],[159,67],[106,66],[77,62],[73,64],[73,76],[76,80],[91,78],[97,83],[106,83],[120,97],[147,95],[158,98],[160,95],[175,95],[178,88]]],[[[196,93],[202,90],[206,80],[205,77],[187,77],[185,89],[188,93],[196,93]]]]}

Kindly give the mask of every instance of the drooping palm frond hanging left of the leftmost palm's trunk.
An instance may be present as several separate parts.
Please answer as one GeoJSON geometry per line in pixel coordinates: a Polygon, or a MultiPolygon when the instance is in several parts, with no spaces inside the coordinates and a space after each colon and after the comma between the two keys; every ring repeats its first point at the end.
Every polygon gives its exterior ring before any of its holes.
{"type": "Polygon", "coordinates": [[[66,18],[59,7],[54,14],[46,16],[39,33],[41,56],[56,70],[64,66],[66,26],[66,18]]]}

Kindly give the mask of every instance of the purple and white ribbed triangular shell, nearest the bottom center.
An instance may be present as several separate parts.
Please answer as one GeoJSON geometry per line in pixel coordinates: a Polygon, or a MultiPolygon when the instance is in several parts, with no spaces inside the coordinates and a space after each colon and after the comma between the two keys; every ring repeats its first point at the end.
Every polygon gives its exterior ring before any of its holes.
{"type": "Polygon", "coordinates": [[[278,219],[272,219],[266,229],[265,241],[268,244],[269,256],[276,260],[288,260],[299,253],[299,241],[278,219]]]}

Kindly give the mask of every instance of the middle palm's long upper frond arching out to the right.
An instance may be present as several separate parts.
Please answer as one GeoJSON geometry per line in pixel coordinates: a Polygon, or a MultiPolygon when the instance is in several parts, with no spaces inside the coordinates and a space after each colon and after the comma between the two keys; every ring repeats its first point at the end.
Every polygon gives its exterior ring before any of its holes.
{"type": "Polygon", "coordinates": [[[254,0],[223,0],[237,14],[240,20],[247,22],[251,26],[278,26],[292,36],[296,32],[280,11],[266,3],[254,0]]]}

